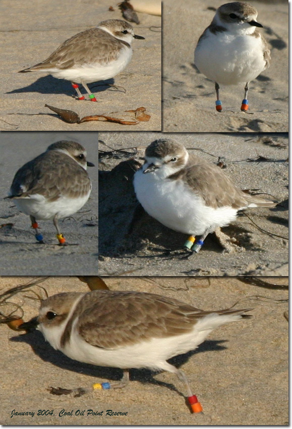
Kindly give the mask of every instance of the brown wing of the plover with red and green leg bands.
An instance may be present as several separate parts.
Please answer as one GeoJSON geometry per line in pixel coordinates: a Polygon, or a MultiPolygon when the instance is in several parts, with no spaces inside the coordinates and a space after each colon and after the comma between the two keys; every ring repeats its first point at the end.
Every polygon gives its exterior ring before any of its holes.
{"type": "Polygon", "coordinates": [[[119,40],[99,28],[91,28],[66,40],[45,61],[36,64],[31,69],[53,67],[68,69],[78,65],[92,64],[94,61],[107,64],[118,58],[120,50],[121,42],[119,40]]]}

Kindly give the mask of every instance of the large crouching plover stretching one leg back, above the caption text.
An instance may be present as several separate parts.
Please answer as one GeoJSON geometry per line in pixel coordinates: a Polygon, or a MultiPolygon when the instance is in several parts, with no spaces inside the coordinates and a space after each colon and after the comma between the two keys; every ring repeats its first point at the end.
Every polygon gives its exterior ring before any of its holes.
{"type": "Polygon", "coordinates": [[[213,329],[250,317],[244,314],[249,310],[204,311],[143,292],[69,292],[42,301],[37,319],[20,329],[37,327],[55,350],[71,359],[124,369],[120,383],[97,383],[95,389],[124,387],[129,368],[172,372],[185,383],[189,403],[199,412],[202,408],[184,372],[167,359],[196,349],[213,329]]]}

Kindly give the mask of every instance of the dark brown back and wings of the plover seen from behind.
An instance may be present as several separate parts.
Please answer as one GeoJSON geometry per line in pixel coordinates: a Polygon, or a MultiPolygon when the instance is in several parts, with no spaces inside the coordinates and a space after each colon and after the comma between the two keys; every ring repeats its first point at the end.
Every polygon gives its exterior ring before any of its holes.
{"type": "Polygon", "coordinates": [[[12,182],[11,194],[13,197],[41,194],[48,201],[55,201],[64,194],[72,198],[85,195],[90,187],[87,172],[74,159],[62,152],[49,151],[18,170],[12,182]],[[25,186],[25,191],[21,185],[25,186]]]}

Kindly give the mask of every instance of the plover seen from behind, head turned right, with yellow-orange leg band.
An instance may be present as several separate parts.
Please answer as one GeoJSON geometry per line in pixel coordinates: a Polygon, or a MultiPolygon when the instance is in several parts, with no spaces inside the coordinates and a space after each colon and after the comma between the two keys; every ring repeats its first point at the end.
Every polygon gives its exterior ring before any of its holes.
{"type": "Polygon", "coordinates": [[[88,200],[91,181],[86,171],[86,151],[75,141],[57,141],[16,173],[9,196],[17,208],[30,216],[35,237],[43,243],[37,220],[52,219],[57,239],[65,245],[58,219],[76,213],[88,200]]]}

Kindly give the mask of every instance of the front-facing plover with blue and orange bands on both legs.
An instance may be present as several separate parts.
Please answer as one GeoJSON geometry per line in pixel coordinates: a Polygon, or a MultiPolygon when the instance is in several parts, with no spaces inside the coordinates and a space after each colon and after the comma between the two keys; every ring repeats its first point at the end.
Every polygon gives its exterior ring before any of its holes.
{"type": "Polygon", "coordinates": [[[248,3],[226,3],[199,38],[195,65],[215,82],[216,110],[222,110],[219,84],[245,83],[241,110],[248,110],[249,82],[270,65],[270,50],[257,27],[258,12],[248,3]]]}

